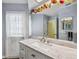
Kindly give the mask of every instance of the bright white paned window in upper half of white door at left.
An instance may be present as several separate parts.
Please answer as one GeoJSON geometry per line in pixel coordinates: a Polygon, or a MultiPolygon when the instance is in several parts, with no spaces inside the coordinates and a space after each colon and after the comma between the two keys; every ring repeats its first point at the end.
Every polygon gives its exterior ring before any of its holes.
{"type": "Polygon", "coordinates": [[[24,13],[6,13],[6,33],[7,36],[24,36],[25,34],[25,20],[24,13]]]}

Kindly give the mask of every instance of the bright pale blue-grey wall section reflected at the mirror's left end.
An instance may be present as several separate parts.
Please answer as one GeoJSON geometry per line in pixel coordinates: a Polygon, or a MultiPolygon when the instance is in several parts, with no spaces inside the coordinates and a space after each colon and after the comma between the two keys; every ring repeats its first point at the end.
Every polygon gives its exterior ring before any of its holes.
{"type": "Polygon", "coordinates": [[[41,36],[43,35],[43,15],[34,14],[32,15],[32,35],[41,36]]]}

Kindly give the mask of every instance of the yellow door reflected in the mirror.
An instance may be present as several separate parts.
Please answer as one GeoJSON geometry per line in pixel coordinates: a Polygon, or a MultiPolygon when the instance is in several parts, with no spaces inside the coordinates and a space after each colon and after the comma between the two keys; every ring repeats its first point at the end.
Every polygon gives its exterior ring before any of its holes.
{"type": "Polygon", "coordinates": [[[57,37],[57,21],[56,21],[56,19],[48,21],[48,37],[50,37],[50,38],[57,37]]]}

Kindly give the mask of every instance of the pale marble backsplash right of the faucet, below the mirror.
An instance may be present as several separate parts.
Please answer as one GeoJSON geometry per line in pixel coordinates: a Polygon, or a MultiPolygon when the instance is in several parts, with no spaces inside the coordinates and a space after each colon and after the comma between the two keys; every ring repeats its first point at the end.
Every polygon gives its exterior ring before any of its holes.
{"type": "Polygon", "coordinates": [[[57,40],[57,39],[47,39],[49,41],[49,45],[53,45],[53,44],[57,44],[57,45],[61,45],[64,47],[69,47],[69,48],[77,48],[76,43],[74,42],[70,42],[70,41],[66,41],[66,40],[57,40]]]}

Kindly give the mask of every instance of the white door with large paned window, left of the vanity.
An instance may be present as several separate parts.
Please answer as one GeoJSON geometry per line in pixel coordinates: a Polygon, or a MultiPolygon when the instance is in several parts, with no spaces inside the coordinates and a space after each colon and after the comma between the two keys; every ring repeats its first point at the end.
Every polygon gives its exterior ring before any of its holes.
{"type": "Polygon", "coordinates": [[[27,14],[25,12],[6,13],[6,57],[19,57],[19,41],[27,36],[27,14]]]}

